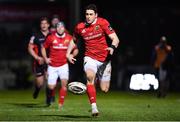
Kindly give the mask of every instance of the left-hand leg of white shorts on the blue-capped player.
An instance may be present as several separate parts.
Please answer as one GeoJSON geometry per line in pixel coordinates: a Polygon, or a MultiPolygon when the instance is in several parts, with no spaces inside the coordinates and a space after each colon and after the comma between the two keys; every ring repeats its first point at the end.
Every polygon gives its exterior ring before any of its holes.
{"type": "Polygon", "coordinates": [[[56,85],[56,81],[58,78],[57,67],[48,66],[47,74],[48,74],[48,85],[56,85]]]}

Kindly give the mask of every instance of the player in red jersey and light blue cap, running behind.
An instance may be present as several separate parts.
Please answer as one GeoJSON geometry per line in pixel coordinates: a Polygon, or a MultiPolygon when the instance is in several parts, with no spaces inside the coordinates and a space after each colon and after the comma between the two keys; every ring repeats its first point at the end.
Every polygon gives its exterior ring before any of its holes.
{"type": "Polygon", "coordinates": [[[67,83],[69,80],[69,66],[66,59],[66,51],[69,43],[73,41],[73,38],[70,34],[65,32],[63,22],[59,22],[56,29],[56,33],[52,33],[46,38],[46,41],[42,46],[42,55],[45,62],[48,64],[48,103],[49,105],[51,104],[51,94],[53,89],[56,87],[56,81],[59,77],[61,80],[61,88],[59,90],[59,108],[61,108],[67,94],[67,83]],[[46,49],[49,49],[49,58],[47,57],[46,49]]]}

